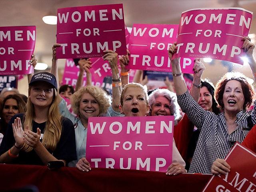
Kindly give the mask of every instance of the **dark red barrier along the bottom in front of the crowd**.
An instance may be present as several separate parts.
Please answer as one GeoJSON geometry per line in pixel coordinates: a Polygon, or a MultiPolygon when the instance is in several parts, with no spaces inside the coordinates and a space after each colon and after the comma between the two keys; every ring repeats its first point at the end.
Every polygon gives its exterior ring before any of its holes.
{"type": "Polygon", "coordinates": [[[163,172],[93,168],[80,172],[62,167],[48,170],[46,166],[0,164],[0,191],[38,187],[40,192],[200,192],[210,175],[179,174],[167,176],[163,172]]]}

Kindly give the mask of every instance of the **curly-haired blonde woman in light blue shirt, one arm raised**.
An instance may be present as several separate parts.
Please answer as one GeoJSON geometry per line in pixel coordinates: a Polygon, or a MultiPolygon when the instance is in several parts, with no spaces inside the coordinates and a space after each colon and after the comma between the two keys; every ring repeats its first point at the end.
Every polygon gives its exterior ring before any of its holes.
{"type": "MultiPolygon", "coordinates": [[[[56,43],[52,47],[52,68],[51,72],[58,77],[58,65],[56,60],[56,47],[60,44],[56,43]]],[[[58,80],[58,78],[57,78],[58,80]]],[[[58,86],[59,83],[57,82],[58,86]]],[[[71,114],[66,106],[66,102],[58,94],[58,107],[62,116],[69,118],[73,124],[73,129],[76,134],[76,154],[77,160],[73,160],[68,164],[70,167],[76,167],[80,171],[88,172],[90,169],[86,168],[89,162],[86,160],[86,137],[89,117],[105,116],[108,107],[110,106],[109,96],[96,86],[85,86],[79,88],[70,98],[71,107],[76,118],[71,114]]]]}

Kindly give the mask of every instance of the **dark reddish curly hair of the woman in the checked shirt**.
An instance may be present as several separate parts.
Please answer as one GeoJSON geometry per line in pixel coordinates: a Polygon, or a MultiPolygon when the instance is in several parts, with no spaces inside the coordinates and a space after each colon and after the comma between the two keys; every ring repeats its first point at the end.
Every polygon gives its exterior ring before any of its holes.
{"type": "Polygon", "coordinates": [[[223,104],[224,89],[227,82],[230,80],[237,80],[241,83],[242,91],[244,94],[243,109],[247,110],[248,108],[250,108],[250,106],[252,105],[252,102],[255,99],[255,91],[254,91],[254,88],[252,87],[252,84],[249,83],[248,78],[244,74],[237,71],[227,72],[217,82],[214,98],[217,101],[218,106],[224,109],[224,104],[223,104]]]}

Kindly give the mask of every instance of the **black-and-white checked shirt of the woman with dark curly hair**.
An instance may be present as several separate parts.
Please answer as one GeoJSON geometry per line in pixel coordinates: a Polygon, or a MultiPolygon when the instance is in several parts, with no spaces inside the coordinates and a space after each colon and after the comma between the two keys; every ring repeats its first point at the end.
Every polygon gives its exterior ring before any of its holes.
{"type": "MultiPolygon", "coordinates": [[[[189,94],[178,95],[178,104],[193,124],[201,130],[196,150],[192,158],[189,173],[211,174],[212,163],[217,158],[224,159],[234,143],[244,140],[249,132],[246,110],[236,115],[235,130],[229,134],[224,112],[216,115],[204,110],[189,94]]],[[[255,102],[254,102],[255,103],[255,102]]],[[[255,108],[252,111],[252,122],[256,124],[255,108]]]]}

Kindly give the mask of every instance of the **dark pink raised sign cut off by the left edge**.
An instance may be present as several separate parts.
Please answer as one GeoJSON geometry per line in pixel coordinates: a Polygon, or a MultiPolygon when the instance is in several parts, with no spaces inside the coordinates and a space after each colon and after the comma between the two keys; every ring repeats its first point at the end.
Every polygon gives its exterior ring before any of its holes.
{"type": "Polygon", "coordinates": [[[30,58],[36,44],[36,26],[0,27],[0,75],[34,73],[30,58]]]}

